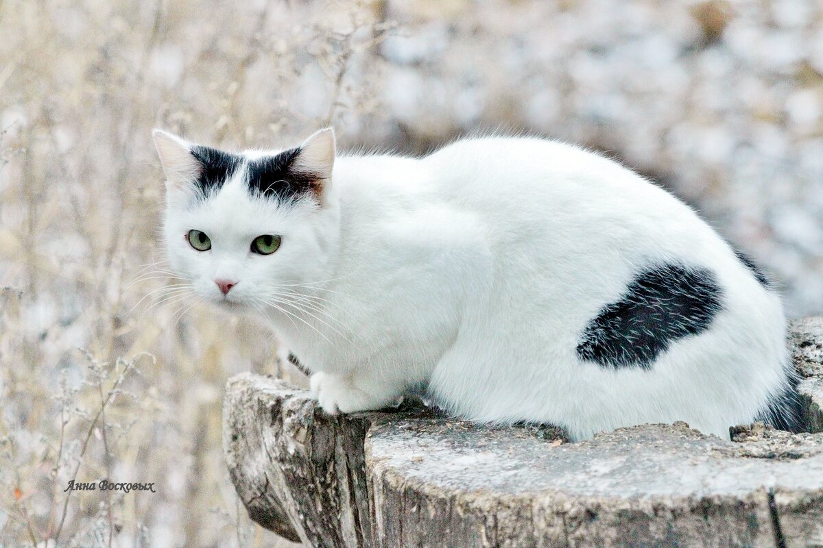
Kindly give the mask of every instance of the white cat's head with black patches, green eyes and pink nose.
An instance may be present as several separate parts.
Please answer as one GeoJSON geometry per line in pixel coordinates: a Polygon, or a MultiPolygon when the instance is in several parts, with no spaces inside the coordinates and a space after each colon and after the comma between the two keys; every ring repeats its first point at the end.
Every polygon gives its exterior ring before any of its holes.
{"type": "Polygon", "coordinates": [[[167,256],[198,297],[262,311],[326,279],[337,234],[331,129],[268,153],[234,154],[160,130],[154,140],[167,256]]]}

